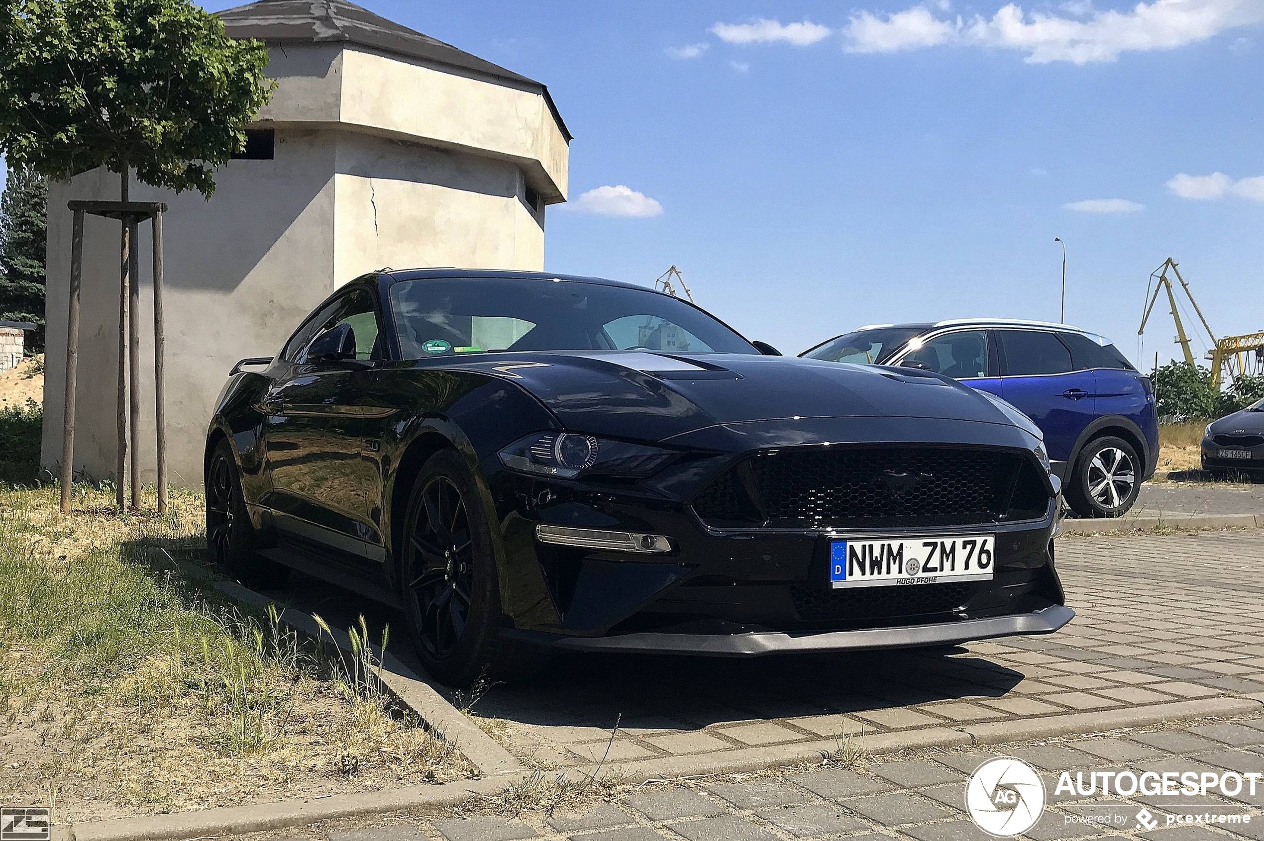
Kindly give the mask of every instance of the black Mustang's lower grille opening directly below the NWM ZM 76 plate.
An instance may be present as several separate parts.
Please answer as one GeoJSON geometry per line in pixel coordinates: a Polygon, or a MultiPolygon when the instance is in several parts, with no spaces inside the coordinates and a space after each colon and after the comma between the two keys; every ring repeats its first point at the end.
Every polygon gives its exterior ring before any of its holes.
{"type": "Polygon", "coordinates": [[[848,590],[794,585],[790,587],[790,599],[803,621],[815,623],[956,614],[977,591],[978,585],[975,583],[848,590]]]}

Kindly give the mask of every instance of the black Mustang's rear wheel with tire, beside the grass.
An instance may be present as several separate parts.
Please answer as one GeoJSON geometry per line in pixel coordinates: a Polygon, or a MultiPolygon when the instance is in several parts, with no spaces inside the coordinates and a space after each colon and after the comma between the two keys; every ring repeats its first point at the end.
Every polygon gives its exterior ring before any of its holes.
{"type": "Polygon", "coordinates": [[[259,557],[233,447],[221,439],[206,466],[206,548],[211,561],[254,587],[279,587],[289,567],[259,557]]]}

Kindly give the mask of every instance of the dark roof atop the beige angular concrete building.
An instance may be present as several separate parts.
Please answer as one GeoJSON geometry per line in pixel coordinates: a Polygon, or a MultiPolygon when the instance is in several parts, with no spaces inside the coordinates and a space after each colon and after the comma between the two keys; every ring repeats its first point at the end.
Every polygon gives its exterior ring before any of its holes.
{"type": "Polygon", "coordinates": [[[245,6],[225,9],[219,16],[224,21],[225,32],[233,38],[258,38],[269,44],[346,42],[535,87],[544,95],[568,143],[571,139],[552,96],[549,95],[549,88],[542,83],[387,20],[354,3],[259,0],[245,6]]]}

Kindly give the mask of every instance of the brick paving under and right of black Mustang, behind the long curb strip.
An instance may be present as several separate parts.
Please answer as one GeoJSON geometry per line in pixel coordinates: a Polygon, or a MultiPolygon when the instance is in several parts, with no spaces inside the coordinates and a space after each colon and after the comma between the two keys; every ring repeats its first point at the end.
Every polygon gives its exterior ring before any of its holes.
{"type": "Polygon", "coordinates": [[[475,712],[514,753],[576,765],[1264,692],[1264,532],[1068,537],[1076,620],[942,652],[717,660],[573,655],[475,712]],[[611,743],[616,721],[619,731],[611,743]]]}

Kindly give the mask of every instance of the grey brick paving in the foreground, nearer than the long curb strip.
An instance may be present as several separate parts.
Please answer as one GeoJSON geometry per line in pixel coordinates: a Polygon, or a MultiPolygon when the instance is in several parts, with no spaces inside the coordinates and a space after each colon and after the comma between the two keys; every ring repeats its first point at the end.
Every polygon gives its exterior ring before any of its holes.
{"type": "MultiPolygon", "coordinates": [[[[1264,770],[1264,717],[1178,730],[1125,732],[1004,749],[928,750],[858,770],[822,768],[780,777],[732,777],[686,785],[647,784],[616,802],[573,813],[516,820],[474,816],[335,821],[302,832],[255,838],[286,841],[985,841],[964,809],[969,773],[994,755],[1018,756],[1040,773],[1047,807],[1023,837],[1031,841],[1264,841],[1264,784],[1194,797],[1102,797],[1057,793],[1062,770],[1264,770]],[[1153,828],[1143,827],[1143,808],[1153,828]],[[1176,816],[1202,814],[1202,823],[1176,816]],[[1212,823],[1206,816],[1249,816],[1212,823]]],[[[1230,787],[1232,788],[1232,787],[1230,787]]]]}

